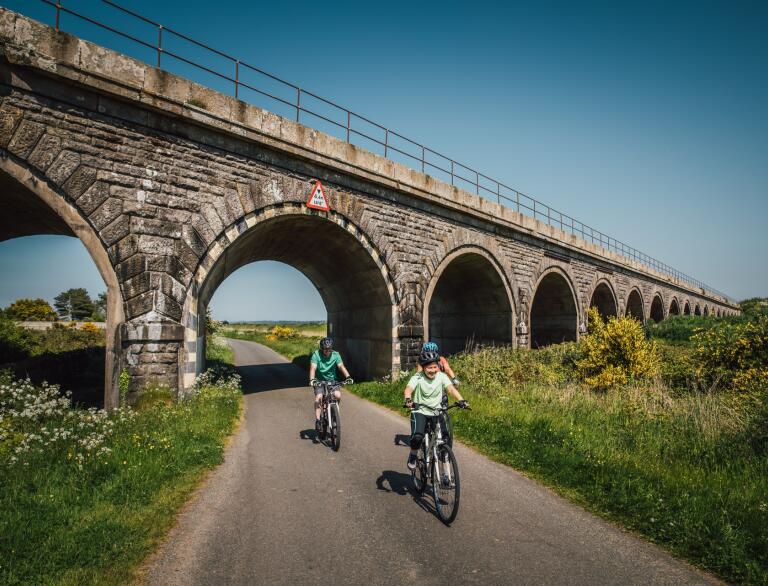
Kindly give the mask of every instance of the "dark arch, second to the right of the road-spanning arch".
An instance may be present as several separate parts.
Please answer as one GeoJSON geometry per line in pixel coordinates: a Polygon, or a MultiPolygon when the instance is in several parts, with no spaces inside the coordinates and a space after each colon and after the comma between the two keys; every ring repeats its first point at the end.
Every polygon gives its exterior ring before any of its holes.
{"type": "Polygon", "coordinates": [[[531,347],[578,339],[578,300],[568,273],[559,266],[544,270],[536,282],[528,323],[531,347]]]}

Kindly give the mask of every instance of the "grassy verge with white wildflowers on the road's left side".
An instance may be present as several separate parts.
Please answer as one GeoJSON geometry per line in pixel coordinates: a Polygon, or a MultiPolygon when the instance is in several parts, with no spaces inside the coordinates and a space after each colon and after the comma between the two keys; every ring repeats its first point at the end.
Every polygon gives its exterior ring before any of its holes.
{"type": "MultiPolygon", "coordinates": [[[[230,352],[212,348],[220,371],[230,352]]],[[[0,583],[134,579],[221,462],[241,397],[237,378],[204,375],[183,401],[157,389],[107,414],[0,377],[0,583]]]]}

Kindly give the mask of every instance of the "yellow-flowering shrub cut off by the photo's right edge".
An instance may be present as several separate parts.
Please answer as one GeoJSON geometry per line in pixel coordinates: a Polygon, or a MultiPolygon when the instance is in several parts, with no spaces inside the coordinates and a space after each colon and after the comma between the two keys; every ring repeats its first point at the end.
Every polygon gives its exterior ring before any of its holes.
{"type": "Polygon", "coordinates": [[[696,372],[710,387],[768,390],[768,316],[695,334],[696,372]]]}

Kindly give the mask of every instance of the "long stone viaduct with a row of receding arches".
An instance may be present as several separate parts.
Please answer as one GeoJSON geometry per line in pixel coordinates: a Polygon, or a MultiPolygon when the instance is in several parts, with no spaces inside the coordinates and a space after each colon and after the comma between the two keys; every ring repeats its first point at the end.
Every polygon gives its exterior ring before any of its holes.
{"type": "Polygon", "coordinates": [[[642,320],[738,312],[552,226],[5,9],[0,52],[0,240],[69,234],[86,246],[108,290],[108,407],[123,369],[133,391],[149,381],[189,388],[203,365],[211,296],[258,260],[312,281],[361,379],[413,365],[425,337],[447,353],[472,342],[576,340],[591,305],[642,320]],[[317,180],[329,212],[305,205],[317,180]]]}

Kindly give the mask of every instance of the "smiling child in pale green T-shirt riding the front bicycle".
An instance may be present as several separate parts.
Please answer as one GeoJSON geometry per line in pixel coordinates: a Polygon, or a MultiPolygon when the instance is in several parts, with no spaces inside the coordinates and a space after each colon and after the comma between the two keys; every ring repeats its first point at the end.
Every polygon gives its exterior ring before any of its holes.
{"type": "MultiPolygon", "coordinates": [[[[405,387],[405,406],[413,408],[413,403],[418,403],[418,409],[411,411],[411,452],[408,454],[408,468],[416,469],[416,455],[424,440],[424,432],[427,426],[427,420],[437,419],[435,409],[442,405],[443,393],[448,392],[458,401],[463,409],[469,406],[461,396],[456,387],[439,366],[440,355],[437,352],[427,350],[419,355],[419,365],[421,372],[417,372],[408,381],[405,387]]],[[[443,430],[447,435],[447,430],[443,430]]]]}

